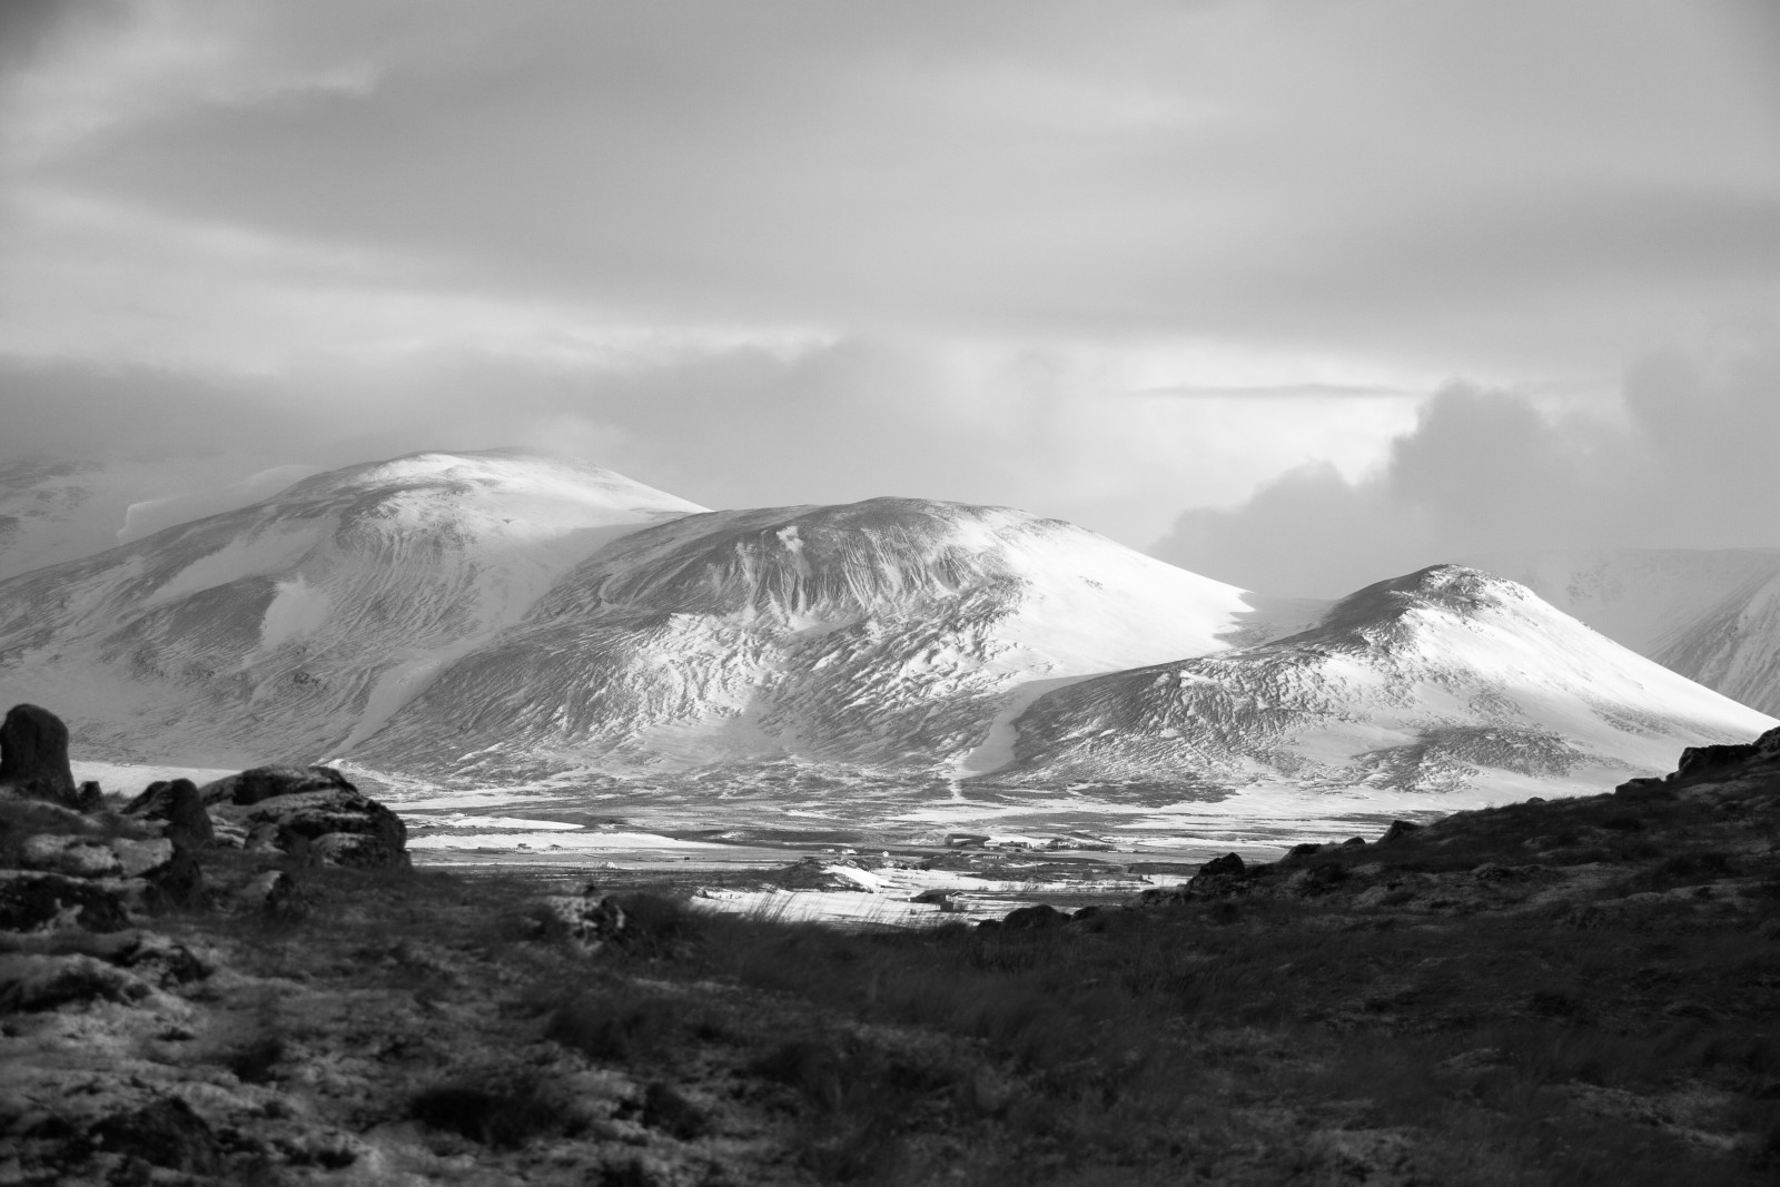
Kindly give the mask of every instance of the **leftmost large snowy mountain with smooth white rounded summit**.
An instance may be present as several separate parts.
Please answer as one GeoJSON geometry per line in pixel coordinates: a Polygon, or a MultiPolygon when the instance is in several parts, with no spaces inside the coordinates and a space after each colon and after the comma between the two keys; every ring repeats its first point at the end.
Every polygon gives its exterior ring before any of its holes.
{"type": "Polygon", "coordinates": [[[87,756],[194,765],[352,744],[578,561],[696,513],[518,450],[415,454],[0,582],[0,703],[87,756]]]}

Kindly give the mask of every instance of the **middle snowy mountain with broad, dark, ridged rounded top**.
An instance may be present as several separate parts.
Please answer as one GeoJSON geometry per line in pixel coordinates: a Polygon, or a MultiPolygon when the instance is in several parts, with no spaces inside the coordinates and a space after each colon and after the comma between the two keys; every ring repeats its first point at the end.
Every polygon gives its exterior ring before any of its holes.
{"type": "Polygon", "coordinates": [[[721,511],[580,564],[351,758],[484,779],[780,756],[968,776],[1011,758],[1047,689],[1315,610],[1002,507],[721,511]]]}

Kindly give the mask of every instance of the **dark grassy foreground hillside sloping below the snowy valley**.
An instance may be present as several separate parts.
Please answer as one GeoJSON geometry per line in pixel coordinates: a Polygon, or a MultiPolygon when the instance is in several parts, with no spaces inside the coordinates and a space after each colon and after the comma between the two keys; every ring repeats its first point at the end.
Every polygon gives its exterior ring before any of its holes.
{"type": "Polygon", "coordinates": [[[208,897],[0,936],[0,1182],[1773,1182],[1764,742],[920,933],[219,828],[208,897]]]}

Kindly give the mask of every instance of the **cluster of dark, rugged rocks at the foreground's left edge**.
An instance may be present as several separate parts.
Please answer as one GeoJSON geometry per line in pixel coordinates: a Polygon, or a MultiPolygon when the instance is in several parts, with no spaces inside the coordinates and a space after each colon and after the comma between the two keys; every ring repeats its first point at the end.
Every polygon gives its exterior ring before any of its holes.
{"type": "MultiPolygon", "coordinates": [[[[114,808],[98,785],[77,788],[68,728],[20,705],[0,724],[0,1014],[9,1043],[55,1034],[64,1014],[119,1034],[190,1038],[194,1005],[183,988],[210,979],[217,957],[157,931],[182,933],[162,922],[166,911],[187,922],[192,913],[276,922],[304,909],[292,877],[303,865],[408,865],[400,819],[329,767],[256,767],[203,788],[160,781],[114,808]],[[98,1021],[93,1011],[123,1014],[98,1021]]],[[[85,1167],[78,1182],[212,1182],[228,1169],[226,1134],[205,1119],[201,1100],[194,1109],[134,1077],[87,1077],[75,1103],[53,1077],[12,1080],[0,1093],[9,1098],[0,1103],[0,1150],[12,1151],[12,1171],[20,1151],[53,1167],[52,1178],[28,1182],[73,1182],[55,1176],[77,1162],[85,1167]]]]}

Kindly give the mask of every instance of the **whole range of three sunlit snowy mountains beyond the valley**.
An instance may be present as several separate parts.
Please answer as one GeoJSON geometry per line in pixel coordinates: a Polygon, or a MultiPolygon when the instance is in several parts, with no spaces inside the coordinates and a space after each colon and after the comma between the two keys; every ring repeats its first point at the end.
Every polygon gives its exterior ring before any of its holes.
{"type": "Polygon", "coordinates": [[[520,450],[315,475],[4,580],[0,698],[94,756],[477,785],[1598,787],[1773,724],[1467,568],[1290,602],[1004,507],[705,511],[520,450]]]}

